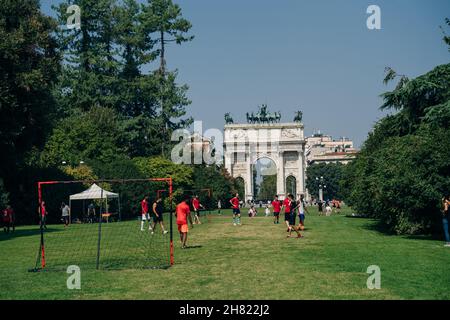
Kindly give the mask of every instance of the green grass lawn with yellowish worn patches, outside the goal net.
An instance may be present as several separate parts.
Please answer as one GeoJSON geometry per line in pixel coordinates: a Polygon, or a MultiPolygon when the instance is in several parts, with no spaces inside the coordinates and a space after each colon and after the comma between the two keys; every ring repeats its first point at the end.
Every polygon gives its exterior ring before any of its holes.
{"type": "MultiPolygon", "coordinates": [[[[169,269],[82,268],[81,290],[66,288],[65,272],[27,271],[38,228],[19,227],[15,236],[0,235],[0,298],[450,299],[450,248],[442,241],[381,234],[372,220],[345,217],[348,209],[331,217],[310,211],[302,239],[287,239],[283,222],[274,225],[272,218],[243,217],[242,226],[233,226],[228,211],[213,214],[190,230],[191,248],[180,249],[174,234],[169,269]],[[380,290],[367,289],[370,265],[381,268],[380,290]]],[[[51,228],[55,239],[65,232],[51,228]]],[[[124,254],[137,250],[124,248],[124,254]]]]}

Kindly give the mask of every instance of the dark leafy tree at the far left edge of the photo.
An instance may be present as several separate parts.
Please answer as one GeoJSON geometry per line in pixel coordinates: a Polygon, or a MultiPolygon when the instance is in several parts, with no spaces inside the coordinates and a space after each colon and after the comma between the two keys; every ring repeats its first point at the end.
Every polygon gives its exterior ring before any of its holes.
{"type": "Polygon", "coordinates": [[[15,177],[51,125],[60,56],[56,21],[39,9],[37,0],[0,2],[0,177],[15,177]]]}

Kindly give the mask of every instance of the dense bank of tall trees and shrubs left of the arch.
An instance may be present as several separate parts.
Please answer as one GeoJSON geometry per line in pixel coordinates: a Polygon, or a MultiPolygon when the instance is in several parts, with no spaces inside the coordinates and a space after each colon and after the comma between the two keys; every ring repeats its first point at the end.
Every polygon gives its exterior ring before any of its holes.
{"type": "MultiPolygon", "coordinates": [[[[66,0],[53,9],[56,19],[38,0],[0,2],[0,205],[12,204],[18,223],[35,222],[39,180],[171,175],[180,190],[201,185],[199,169],[167,160],[171,132],[192,122],[188,87],[166,61],[170,44],[193,39],[181,8],[66,0]],[[73,4],[80,28],[66,26],[73,4]]],[[[223,168],[203,170],[224,177],[218,195],[230,192],[223,168]]]]}

